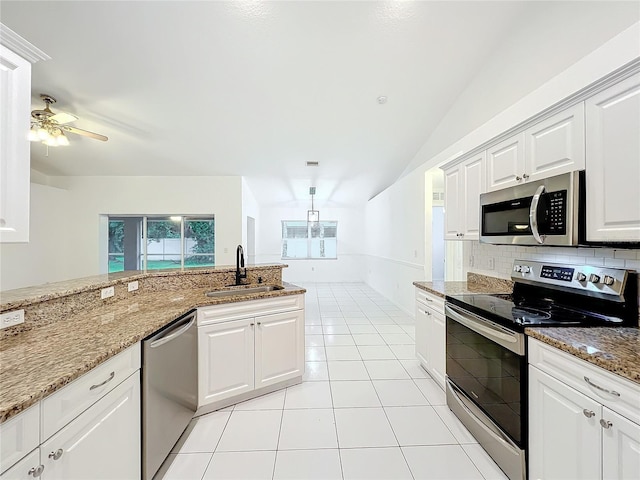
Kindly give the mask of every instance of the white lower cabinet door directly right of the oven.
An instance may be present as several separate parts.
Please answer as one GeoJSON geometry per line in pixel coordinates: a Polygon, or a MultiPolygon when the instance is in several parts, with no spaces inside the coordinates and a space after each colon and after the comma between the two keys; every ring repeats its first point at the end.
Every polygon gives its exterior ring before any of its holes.
{"type": "Polygon", "coordinates": [[[598,479],[599,403],[529,367],[529,478],[598,479]]]}

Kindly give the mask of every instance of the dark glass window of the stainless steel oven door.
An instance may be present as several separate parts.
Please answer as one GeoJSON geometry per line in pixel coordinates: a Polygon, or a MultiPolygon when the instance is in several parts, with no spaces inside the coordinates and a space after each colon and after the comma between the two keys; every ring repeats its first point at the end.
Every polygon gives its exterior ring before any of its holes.
{"type": "Polygon", "coordinates": [[[522,446],[526,359],[447,318],[447,375],[522,446]]]}

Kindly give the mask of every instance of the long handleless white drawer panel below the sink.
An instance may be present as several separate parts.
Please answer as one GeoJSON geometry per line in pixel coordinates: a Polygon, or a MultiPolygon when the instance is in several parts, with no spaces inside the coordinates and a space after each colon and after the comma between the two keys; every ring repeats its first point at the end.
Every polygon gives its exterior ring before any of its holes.
{"type": "Polygon", "coordinates": [[[304,308],[303,295],[285,295],[276,298],[248,300],[246,302],[223,303],[198,308],[198,326],[221,321],[239,320],[256,315],[289,312],[304,308]]]}

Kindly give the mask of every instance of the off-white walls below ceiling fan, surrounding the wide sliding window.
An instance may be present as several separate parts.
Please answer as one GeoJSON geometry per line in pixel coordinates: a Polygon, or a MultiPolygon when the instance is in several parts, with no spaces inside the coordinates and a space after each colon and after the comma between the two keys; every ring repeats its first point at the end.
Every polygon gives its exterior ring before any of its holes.
{"type": "Polygon", "coordinates": [[[31,185],[31,241],[1,247],[2,290],[105,273],[100,271],[101,215],[213,213],[216,264],[235,265],[235,247],[242,241],[241,177],[56,177],[56,182],[65,189],[31,185]]]}

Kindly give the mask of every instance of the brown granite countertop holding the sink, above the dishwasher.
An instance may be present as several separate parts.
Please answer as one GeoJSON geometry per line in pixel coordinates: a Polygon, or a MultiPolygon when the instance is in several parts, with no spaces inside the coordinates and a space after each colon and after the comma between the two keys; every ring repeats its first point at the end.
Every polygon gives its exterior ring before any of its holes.
{"type": "Polygon", "coordinates": [[[212,298],[210,288],[141,292],[68,315],[0,342],[0,423],[194,308],[304,293],[284,290],[212,298]]]}

